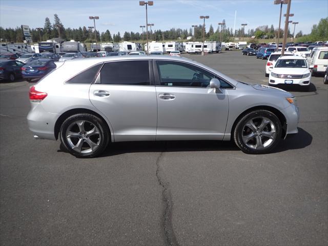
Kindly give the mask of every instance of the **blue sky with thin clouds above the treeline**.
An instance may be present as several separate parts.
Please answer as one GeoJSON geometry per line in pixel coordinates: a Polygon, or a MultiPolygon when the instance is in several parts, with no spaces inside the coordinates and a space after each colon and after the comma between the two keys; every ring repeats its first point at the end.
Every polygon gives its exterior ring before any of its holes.
{"type": "MultiPolygon", "coordinates": [[[[240,24],[248,24],[248,29],[262,25],[279,24],[280,5],[274,5],[274,0],[154,0],[153,6],[148,6],[148,23],[153,23],[152,30],[169,30],[171,28],[190,29],[192,25],[202,24],[200,15],[209,15],[206,27],[226,20],[229,28],[234,28],[235,11],[236,29],[240,24]]],[[[282,13],[286,12],[283,5],[282,13]]],[[[111,34],[125,31],[141,32],[140,25],[146,24],[146,8],[139,6],[139,1],[130,0],[0,0],[0,26],[15,28],[28,25],[30,28],[43,27],[45,18],[53,23],[53,15],[57,14],[65,28],[93,26],[89,16],[99,16],[96,29],[111,34]]],[[[311,32],[314,24],[320,18],[328,16],[328,0],[292,0],[290,20],[298,22],[295,33],[311,32]]],[[[283,20],[281,26],[283,29],[283,20]]],[[[208,29],[207,29],[208,30],[208,29]]],[[[293,30],[293,27],[291,27],[293,30]]]]}

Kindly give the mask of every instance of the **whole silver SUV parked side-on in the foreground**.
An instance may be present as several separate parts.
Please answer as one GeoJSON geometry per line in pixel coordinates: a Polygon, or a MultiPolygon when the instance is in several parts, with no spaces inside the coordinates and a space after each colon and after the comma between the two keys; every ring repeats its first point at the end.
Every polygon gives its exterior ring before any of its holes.
{"type": "Polygon", "coordinates": [[[30,89],[34,137],[60,138],[76,157],[108,143],[230,140],[245,153],[272,151],[297,133],[289,92],[238,82],[186,58],[113,56],[69,60],[30,89]]]}

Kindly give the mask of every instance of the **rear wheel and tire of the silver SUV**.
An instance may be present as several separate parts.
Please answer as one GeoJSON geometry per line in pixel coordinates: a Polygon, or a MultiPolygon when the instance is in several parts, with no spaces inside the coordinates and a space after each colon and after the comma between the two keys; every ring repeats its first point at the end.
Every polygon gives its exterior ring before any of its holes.
{"type": "Polygon", "coordinates": [[[61,125],[59,135],[64,148],[78,158],[100,155],[110,139],[106,122],[87,113],[68,117],[61,125]]]}

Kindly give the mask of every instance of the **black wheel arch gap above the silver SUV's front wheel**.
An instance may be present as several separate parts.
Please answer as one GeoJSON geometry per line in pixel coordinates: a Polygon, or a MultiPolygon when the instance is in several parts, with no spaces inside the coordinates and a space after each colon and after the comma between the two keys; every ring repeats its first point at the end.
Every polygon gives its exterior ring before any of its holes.
{"type": "Polygon", "coordinates": [[[278,117],[278,119],[281,123],[281,130],[282,130],[281,136],[282,136],[282,138],[284,138],[286,136],[286,133],[287,133],[287,120],[286,120],[286,117],[283,115],[283,113],[280,112],[280,110],[278,110],[274,107],[271,107],[271,106],[256,106],[256,107],[252,107],[252,108],[249,108],[249,109],[243,111],[241,114],[239,114],[239,116],[234,121],[234,124],[233,124],[233,126],[231,128],[231,132],[230,132],[231,136],[233,136],[236,125],[239,122],[239,120],[245,114],[248,114],[248,113],[250,113],[252,111],[255,111],[255,110],[268,110],[268,111],[274,113],[278,117]]]}

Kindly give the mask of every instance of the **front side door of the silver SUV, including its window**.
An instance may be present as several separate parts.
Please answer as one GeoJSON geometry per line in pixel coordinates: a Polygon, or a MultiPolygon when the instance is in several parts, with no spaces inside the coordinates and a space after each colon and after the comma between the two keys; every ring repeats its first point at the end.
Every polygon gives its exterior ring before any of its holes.
{"type": "MultiPolygon", "coordinates": [[[[182,61],[153,63],[158,105],[156,140],[216,139],[226,130],[226,89],[209,88],[215,74],[182,61]]],[[[222,87],[233,87],[217,77],[222,87]]]]}

